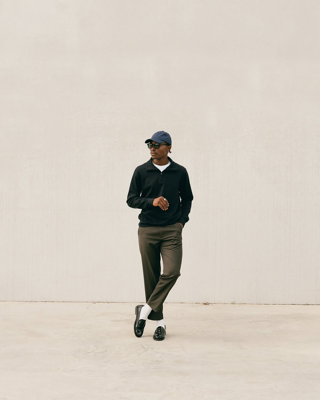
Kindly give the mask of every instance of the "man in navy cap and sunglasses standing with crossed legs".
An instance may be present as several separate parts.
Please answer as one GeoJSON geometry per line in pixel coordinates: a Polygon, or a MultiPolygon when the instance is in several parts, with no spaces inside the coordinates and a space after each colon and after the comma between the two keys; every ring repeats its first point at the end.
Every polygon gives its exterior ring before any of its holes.
{"type": "Polygon", "coordinates": [[[129,207],[141,208],[138,240],[146,300],[145,305],[135,307],[133,329],[140,338],[146,320],[154,320],[157,327],[153,339],[163,340],[163,302],[180,276],[182,230],[189,221],[193,194],[185,167],[168,157],[172,143],[169,133],[156,132],[145,143],[151,158],[135,168],[127,196],[129,207]]]}

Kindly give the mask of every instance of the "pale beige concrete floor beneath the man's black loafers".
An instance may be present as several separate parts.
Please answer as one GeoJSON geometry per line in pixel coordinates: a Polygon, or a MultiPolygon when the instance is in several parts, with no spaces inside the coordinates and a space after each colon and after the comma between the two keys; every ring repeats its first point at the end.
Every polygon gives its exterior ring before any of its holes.
{"type": "Polygon", "coordinates": [[[0,399],[320,399],[320,306],[136,304],[0,302],[0,399]]]}

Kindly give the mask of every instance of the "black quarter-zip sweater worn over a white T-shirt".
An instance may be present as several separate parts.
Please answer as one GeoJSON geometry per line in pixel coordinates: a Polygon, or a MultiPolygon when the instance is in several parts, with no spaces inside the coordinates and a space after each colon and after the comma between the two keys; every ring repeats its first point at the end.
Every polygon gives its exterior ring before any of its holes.
{"type": "Polygon", "coordinates": [[[131,179],[127,204],[141,208],[139,226],[165,226],[189,221],[193,194],[185,167],[170,157],[171,164],[162,172],[149,161],[135,168],[131,179]],[[167,210],[153,206],[153,200],[163,196],[169,202],[167,210]]]}

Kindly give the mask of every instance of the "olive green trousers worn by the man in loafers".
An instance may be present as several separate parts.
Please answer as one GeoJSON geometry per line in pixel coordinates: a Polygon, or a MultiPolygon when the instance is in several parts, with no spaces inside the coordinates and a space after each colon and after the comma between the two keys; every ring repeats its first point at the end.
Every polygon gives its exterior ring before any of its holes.
{"type": "Polygon", "coordinates": [[[181,275],[182,227],[179,222],[166,226],[139,226],[138,240],[145,300],[152,308],[148,319],[159,321],[163,319],[163,302],[181,275]]]}

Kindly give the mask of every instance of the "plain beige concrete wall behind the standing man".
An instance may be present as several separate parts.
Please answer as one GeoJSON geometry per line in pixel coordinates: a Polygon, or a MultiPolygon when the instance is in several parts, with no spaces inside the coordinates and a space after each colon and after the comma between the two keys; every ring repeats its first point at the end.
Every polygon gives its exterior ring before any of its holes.
{"type": "Polygon", "coordinates": [[[144,140],[194,202],[168,302],[320,304],[318,1],[0,4],[0,300],[141,302],[144,140]]]}

